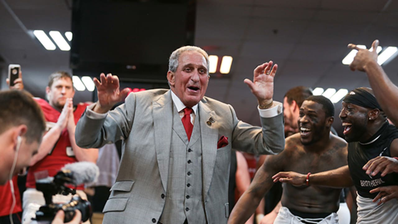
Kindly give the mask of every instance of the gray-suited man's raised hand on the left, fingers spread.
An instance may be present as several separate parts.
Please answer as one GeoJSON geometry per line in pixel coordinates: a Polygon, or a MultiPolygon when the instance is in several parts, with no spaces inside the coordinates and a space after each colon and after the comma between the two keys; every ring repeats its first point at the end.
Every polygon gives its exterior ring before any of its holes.
{"type": "Polygon", "coordinates": [[[108,73],[105,77],[104,73],[100,75],[101,82],[94,78],[94,84],[97,87],[98,101],[94,107],[94,111],[98,113],[106,113],[117,102],[123,100],[129,93],[129,89],[119,90],[119,78],[116,75],[108,73]]]}

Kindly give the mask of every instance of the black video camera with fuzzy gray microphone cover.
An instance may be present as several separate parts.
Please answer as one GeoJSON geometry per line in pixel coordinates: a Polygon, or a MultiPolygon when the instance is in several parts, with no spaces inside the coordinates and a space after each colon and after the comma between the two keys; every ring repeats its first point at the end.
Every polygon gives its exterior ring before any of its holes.
{"type": "Polygon", "coordinates": [[[93,165],[88,164],[89,169],[86,169],[86,173],[83,172],[83,175],[86,175],[86,177],[81,177],[82,174],[74,172],[74,170],[81,170],[83,167],[87,167],[87,164],[84,163],[88,162],[68,164],[70,165],[70,169],[62,169],[61,171],[58,171],[54,177],[46,177],[36,181],[36,189],[37,191],[43,192],[46,202],[45,205],[41,206],[39,210],[36,211],[35,220],[37,220],[37,222],[51,223],[59,210],[63,210],[65,213],[64,222],[70,222],[70,220],[73,219],[76,209],[80,210],[82,213],[83,222],[87,221],[92,216],[90,202],[83,200],[80,196],[73,196],[70,202],[64,204],[53,203],[53,195],[75,195],[77,185],[92,182],[96,178],[95,176],[98,176],[94,174],[94,177],[87,177],[88,175],[91,175],[91,173],[98,173],[98,167],[94,163],[92,163],[93,165]],[[71,185],[74,189],[68,187],[71,185]]]}

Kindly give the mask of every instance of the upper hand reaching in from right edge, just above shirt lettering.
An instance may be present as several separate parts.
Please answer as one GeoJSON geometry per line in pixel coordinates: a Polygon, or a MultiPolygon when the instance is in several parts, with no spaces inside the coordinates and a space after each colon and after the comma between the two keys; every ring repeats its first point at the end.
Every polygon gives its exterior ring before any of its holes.
{"type": "Polygon", "coordinates": [[[388,173],[398,173],[398,159],[378,156],[369,160],[362,169],[366,170],[367,175],[375,176],[378,172],[381,172],[381,176],[384,177],[388,173]]]}

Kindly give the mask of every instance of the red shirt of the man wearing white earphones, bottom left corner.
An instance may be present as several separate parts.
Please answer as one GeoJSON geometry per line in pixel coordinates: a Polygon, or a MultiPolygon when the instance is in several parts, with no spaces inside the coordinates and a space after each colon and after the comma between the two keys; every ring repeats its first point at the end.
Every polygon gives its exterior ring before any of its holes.
{"type": "MultiPolygon", "coordinates": [[[[21,196],[20,196],[20,190],[18,189],[17,181],[18,181],[18,175],[15,175],[12,178],[12,182],[14,184],[16,204],[14,210],[12,211],[12,214],[22,211],[21,196]]],[[[12,193],[11,193],[10,183],[7,182],[5,185],[0,185],[0,202],[1,202],[0,216],[7,216],[10,214],[10,209],[12,206],[11,194],[12,193]]]]}

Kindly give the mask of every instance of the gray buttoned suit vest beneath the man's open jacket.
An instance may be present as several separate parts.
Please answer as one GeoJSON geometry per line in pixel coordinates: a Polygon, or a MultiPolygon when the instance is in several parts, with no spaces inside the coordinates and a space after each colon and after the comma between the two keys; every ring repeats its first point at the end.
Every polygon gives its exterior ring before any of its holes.
{"type": "Polygon", "coordinates": [[[166,203],[160,222],[182,224],[187,219],[188,223],[206,223],[199,113],[190,141],[175,106],[172,126],[166,203]]]}

